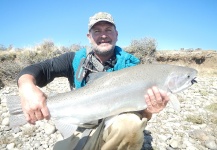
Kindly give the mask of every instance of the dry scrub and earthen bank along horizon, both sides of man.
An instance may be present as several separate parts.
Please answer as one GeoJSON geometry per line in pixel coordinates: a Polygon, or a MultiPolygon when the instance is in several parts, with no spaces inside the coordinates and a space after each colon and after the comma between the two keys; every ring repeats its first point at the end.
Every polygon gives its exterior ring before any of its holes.
{"type": "MultiPolygon", "coordinates": [[[[45,40],[40,44],[27,48],[15,49],[13,45],[4,47],[0,45],[0,88],[8,82],[14,82],[17,74],[27,65],[49,59],[66,52],[75,52],[83,47],[80,44],[72,44],[69,47],[56,46],[51,40],[45,40]]],[[[157,51],[157,42],[153,38],[132,40],[126,51],[140,58],[141,63],[166,63],[187,65],[196,67],[200,73],[212,73],[216,75],[217,52],[216,51],[157,51]],[[208,70],[206,70],[208,69],[208,70]]],[[[201,92],[206,96],[206,92],[201,92]]]]}

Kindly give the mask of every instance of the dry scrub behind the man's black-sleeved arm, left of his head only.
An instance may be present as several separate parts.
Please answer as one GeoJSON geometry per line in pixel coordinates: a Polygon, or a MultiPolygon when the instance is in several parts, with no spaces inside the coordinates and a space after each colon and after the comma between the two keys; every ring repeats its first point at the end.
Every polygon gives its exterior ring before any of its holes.
{"type": "MultiPolygon", "coordinates": [[[[19,50],[0,51],[0,88],[14,83],[18,73],[26,66],[56,57],[60,54],[77,51],[84,46],[73,44],[70,47],[55,46],[51,40],[19,50]]],[[[3,49],[3,48],[2,48],[3,49]]]]}

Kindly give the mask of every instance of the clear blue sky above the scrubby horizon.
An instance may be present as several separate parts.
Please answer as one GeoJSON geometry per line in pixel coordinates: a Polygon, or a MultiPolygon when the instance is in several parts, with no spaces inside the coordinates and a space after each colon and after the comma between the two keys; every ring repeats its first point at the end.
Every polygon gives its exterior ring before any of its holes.
{"type": "Polygon", "coordinates": [[[114,17],[121,47],[150,37],[158,50],[217,50],[216,0],[1,0],[0,44],[89,45],[88,20],[99,11],[114,17]]]}

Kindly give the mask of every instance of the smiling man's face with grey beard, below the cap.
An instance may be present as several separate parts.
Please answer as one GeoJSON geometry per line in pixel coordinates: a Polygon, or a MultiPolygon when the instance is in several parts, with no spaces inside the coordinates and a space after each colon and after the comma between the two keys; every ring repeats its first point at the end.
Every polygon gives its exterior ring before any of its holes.
{"type": "Polygon", "coordinates": [[[87,34],[94,52],[97,55],[106,56],[113,52],[117,42],[118,32],[114,25],[101,21],[96,23],[87,34]]]}

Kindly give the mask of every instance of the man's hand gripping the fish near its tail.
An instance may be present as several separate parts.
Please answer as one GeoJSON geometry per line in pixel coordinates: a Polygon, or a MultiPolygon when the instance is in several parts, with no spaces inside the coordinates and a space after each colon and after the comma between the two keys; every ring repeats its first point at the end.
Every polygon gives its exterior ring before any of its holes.
{"type": "Polygon", "coordinates": [[[34,84],[34,78],[31,75],[23,75],[19,78],[18,85],[26,120],[35,124],[37,120],[49,119],[47,96],[34,84]]]}

